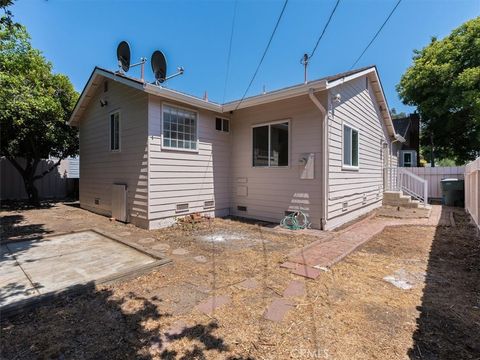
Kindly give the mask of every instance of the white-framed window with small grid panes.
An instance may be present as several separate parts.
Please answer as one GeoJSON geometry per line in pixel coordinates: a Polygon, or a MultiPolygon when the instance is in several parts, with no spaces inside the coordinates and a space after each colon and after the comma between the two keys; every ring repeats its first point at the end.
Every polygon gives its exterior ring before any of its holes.
{"type": "Polygon", "coordinates": [[[163,106],[163,146],[197,149],[197,113],[170,105],[163,106]]]}

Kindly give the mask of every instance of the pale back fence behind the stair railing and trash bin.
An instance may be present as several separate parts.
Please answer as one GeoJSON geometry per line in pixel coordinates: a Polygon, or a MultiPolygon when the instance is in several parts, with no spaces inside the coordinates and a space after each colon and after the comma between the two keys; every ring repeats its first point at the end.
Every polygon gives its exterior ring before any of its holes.
{"type": "Polygon", "coordinates": [[[442,189],[440,181],[447,178],[463,179],[465,173],[465,166],[450,166],[450,167],[412,167],[405,168],[413,172],[415,175],[428,181],[428,198],[441,199],[442,189]]]}

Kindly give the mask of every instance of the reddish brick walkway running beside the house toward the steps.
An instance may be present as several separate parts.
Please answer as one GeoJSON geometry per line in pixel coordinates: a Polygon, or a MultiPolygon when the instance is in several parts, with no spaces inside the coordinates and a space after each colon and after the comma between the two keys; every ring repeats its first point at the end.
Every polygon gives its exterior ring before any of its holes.
{"type": "Polygon", "coordinates": [[[331,233],[326,239],[320,239],[294,252],[281,266],[290,269],[293,274],[308,278],[320,275],[318,269],[327,269],[350,254],[360,245],[370,240],[387,226],[455,226],[453,210],[434,205],[428,218],[395,219],[368,217],[348,228],[331,233]],[[315,271],[317,270],[317,271],[315,271]]]}

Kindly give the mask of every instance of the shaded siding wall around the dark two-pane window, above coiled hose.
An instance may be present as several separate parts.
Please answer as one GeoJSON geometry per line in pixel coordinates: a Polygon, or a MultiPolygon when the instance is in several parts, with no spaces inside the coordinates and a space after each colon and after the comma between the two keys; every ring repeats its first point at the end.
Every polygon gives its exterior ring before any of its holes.
{"type": "MultiPolygon", "coordinates": [[[[326,96],[319,99],[326,104],[326,96]]],[[[238,216],[278,222],[285,211],[302,210],[320,227],[322,115],[307,95],[241,109],[232,122],[232,208],[238,216]],[[252,125],[290,120],[290,165],[252,166],[252,125]],[[302,154],[314,154],[314,178],[301,179],[302,154]],[[246,206],[247,211],[238,211],[246,206]]]]}

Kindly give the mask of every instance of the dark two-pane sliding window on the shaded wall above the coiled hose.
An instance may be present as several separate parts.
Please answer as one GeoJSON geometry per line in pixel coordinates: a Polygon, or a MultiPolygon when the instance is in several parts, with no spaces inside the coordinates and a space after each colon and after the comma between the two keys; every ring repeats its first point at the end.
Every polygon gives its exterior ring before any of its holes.
{"type": "Polygon", "coordinates": [[[253,166],[288,166],[289,127],[288,121],[253,127],[253,166]]]}

